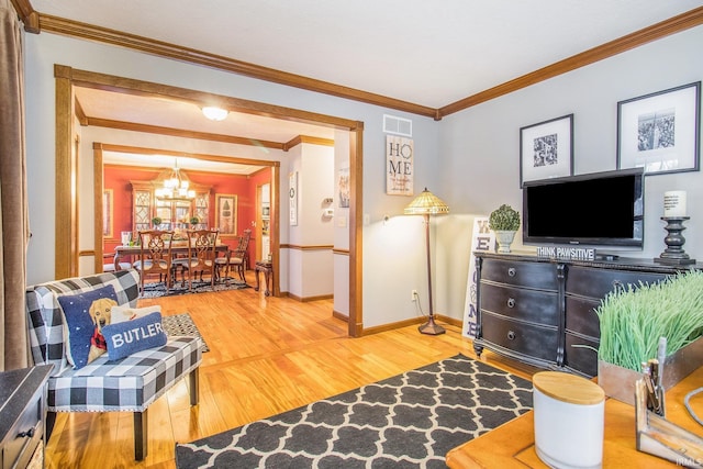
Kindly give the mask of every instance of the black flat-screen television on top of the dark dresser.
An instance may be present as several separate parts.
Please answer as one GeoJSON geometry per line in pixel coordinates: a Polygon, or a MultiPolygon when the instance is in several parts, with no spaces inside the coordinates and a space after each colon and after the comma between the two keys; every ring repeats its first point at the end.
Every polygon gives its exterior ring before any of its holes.
{"type": "Polygon", "coordinates": [[[641,168],[527,181],[523,243],[643,247],[641,168]]]}

